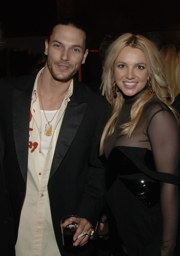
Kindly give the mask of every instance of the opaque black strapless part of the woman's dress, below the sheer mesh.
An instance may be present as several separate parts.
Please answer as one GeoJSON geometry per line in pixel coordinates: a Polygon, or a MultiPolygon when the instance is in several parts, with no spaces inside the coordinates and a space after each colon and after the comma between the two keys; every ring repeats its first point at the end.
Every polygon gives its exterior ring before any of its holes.
{"type": "Polygon", "coordinates": [[[151,150],[127,146],[111,150],[105,205],[113,255],[120,249],[122,255],[160,256],[155,249],[161,237],[160,180],[151,150]]]}

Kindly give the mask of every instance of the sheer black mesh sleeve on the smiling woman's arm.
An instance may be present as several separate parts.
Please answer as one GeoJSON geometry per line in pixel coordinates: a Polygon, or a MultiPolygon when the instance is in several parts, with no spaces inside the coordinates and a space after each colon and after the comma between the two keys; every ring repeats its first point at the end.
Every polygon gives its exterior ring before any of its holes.
{"type": "MultiPolygon", "coordinates": [[[[158,172],[178,176],[180,158],[179,125],[167,106],[155,104],[149,115],[147,135],[158,172]]],[[[173,255],[179,221],[179,190],[177,185],[161,183],[163,236],[161,254],[173,255]]]]}

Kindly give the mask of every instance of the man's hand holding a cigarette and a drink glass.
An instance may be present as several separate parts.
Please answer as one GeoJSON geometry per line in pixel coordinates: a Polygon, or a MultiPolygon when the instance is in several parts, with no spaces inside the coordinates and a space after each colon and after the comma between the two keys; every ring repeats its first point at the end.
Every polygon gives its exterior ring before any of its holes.
{"type": "Polygon", "coordinates": [[[80,222],[79,222],[79,227],[77,228],[77,231],[75,232],[74,236],[73,236],[73,246],[82,246],[85,245],[88,242],[88,238],[91,235],[91,230],[92,230],[92,226],[91,223],[86,220],[81,218],[80,222]],[[78,238],[79,235],[85,233],[85,235],[82,235],[81,237],[78,238]]]}

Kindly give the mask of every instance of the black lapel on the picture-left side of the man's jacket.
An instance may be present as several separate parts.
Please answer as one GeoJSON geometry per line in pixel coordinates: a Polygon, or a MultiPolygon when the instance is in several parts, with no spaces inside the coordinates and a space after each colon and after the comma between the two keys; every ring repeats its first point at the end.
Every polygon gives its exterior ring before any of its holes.
{"type": "MultiPolygon", "coordinates": [[[[31,76],[34,78],[34,74],[31,76]]],[[[19,81],[19,86],[21,86],[21,89],[17,89],[15,87],[13,91],[12,112],[15,149],[19,167],[25,182],[27,179],[29,119],[34,80],[35,79],[32,80],[30,77],[26,80],[19,81]],[[31,81],[30,84],[29,81],[31,81]]]]}

